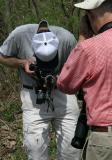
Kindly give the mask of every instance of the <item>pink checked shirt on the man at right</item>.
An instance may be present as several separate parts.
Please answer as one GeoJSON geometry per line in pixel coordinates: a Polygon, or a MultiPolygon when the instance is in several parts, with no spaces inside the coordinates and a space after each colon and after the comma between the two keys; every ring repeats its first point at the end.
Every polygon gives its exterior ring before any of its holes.
{"type": "Polygon", "coordinates": [[[112,125],[112,29],[79,43],[57,86],[73,94],[83,88],[89,125],[112,125]]]}

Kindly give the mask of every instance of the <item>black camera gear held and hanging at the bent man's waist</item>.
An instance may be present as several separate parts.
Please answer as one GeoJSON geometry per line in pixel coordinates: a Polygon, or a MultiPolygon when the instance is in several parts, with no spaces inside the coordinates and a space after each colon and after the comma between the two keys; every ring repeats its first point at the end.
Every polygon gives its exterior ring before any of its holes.
{"type": "Polygon", "coordinates": [[[36,80],[36,103],[42,104],[47,102],[48,105],[52,105],[53,99],[51,92],[56,86],[56,78],[53,70],[49,68],[40,68],[37,64],[31,64],[30,70],[35,71],[32,78],[36,80]]]}

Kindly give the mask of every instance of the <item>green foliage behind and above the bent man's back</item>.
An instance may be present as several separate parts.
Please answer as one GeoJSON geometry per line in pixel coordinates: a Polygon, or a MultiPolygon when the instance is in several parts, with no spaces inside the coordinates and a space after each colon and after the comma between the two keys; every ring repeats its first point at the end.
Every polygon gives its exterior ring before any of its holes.
{"type": "Polygon", "coordinates": [[[46,19],[77,36],[79,18],[73,4],[73,0],[1,0],[0,11],[6,24],[3,30],[9,33],[16,26],[46,19]]]}

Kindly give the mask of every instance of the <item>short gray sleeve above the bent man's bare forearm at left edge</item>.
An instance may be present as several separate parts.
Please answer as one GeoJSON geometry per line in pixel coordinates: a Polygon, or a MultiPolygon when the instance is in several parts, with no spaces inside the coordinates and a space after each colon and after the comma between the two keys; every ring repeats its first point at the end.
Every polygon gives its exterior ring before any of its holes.
{"type": "Polygon", "coordinates": [[[4,41],[3,45],[0,46],[0,54],[5,56],[17,57],[18,46],[14,31],[11,32],[8,38],[4,41]]]}

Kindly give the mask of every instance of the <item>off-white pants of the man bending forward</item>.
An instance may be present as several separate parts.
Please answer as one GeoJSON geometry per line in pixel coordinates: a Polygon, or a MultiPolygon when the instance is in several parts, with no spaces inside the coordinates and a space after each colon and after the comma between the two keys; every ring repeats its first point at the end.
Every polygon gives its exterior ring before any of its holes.
{"type": "Polygon", "coordinates": [[[29,160],[48,160],[49,124],[53,120],[58,160],[79,160],[80,150],[71,146],[79,116],[75,95],[54,91],[54,112],[47,104],[37,105],[34,90],[22,89],[24,146],[29,160]]]}

